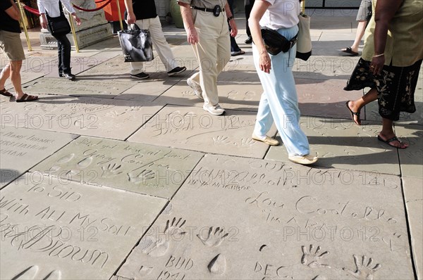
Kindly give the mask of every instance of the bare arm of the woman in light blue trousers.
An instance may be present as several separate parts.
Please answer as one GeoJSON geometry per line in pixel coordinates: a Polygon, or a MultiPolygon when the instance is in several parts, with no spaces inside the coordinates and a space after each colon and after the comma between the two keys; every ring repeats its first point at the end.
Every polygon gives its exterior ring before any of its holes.
{"type": "Polygon", "coordinates": [[[248,26],[251,30],[252,41],[254,42],[257,50],[259,51],[259,65],[260,70],[269,73],[271,69],[271,61],[269,53],[266,51],[266,47],[263,43],[262,32],[260,31],[259,21],[262,19],[262,16],[269,8],[270,3],[268,1],[255,1],[254,6],[248,19],[248,26]]]}

